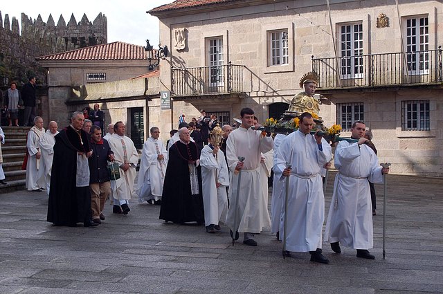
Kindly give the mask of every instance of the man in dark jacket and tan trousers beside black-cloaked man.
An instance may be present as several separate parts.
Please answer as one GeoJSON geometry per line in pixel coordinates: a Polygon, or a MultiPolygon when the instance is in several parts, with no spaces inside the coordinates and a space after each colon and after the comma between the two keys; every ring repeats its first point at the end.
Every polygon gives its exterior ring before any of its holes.
{"type": "Polygon", "coordinates": [[[89,157],[92,221],[102,223],[105,220],[103,208],[105,208],[105,202],[111,194],[107,162],[114,160],[114,152],[111,151],[108,141],[102,139],[102,130],[96,125],[91,127],[91,141],[89,143],[93,151],[93,155],[89,157]]]}

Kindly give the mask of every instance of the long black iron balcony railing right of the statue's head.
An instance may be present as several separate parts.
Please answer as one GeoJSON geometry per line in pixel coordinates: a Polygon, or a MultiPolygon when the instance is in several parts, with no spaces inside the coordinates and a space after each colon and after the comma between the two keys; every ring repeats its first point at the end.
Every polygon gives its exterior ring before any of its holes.
{"type": "Polygon", "coordinates": [[[442,48],[411,53],[312,57],[319,88],[394,86],[442,82],[442,48]]]}

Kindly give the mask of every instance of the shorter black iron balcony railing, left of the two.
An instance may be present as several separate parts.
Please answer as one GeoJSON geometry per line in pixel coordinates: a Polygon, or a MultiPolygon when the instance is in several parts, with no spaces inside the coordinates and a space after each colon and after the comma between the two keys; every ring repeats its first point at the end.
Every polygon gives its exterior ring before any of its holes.
{"type": "Polygon", "coordinates": [[[240,93],[243,91],[244,66],[227,64],[172,68],[175,96],[240,93]]]}

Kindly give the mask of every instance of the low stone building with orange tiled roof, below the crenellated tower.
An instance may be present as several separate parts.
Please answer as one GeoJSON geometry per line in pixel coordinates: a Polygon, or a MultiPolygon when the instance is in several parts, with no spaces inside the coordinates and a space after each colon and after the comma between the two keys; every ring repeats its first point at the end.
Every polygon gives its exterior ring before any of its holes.
{"type": "MultiPolygon", "coordinates": [[[[73,111],[105,111],[105,124],[122,120],[134,142],[145,140],[147,103],[159,96],[159,71],[148,73],[143,46],[113,42],[36,58],[46,68],[48,95],[42,100],[45,120],[60,127],[73,111]]],[[[141,146],[140,146],[141,148],[141,146]]]]}

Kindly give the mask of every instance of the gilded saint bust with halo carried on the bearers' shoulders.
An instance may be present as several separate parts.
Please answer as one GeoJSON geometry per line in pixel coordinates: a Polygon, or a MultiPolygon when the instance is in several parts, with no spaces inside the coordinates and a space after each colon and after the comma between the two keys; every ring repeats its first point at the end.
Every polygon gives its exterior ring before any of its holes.
{"type": "Polygon", "coordinates": [[[288,111],[300,113],[307,111],[318,115],[320,103],[314,97],[317,88],[316,73],[304,75],[302,80],[300,80],[300,88],[302,87],[305,87],[305,91],[293,96],[288,111]]]}

